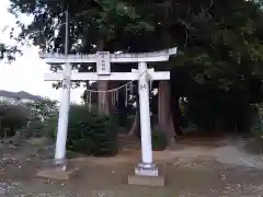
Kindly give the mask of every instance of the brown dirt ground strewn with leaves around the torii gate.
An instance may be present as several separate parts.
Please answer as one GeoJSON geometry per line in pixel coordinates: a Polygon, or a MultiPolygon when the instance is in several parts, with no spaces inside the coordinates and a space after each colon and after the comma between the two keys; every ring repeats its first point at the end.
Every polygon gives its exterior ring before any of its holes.
{"type": "Polygon", "coordinates": [[[140,158],[138,150],[128,148],[114,158],[71,160],[70,164],[80,171],[68,182],[36,178],[36,172],[50,163],[52,152],[52,146],[30,143],[16,149],[4,148],[0,163],[0,197],[263,196],[263,169],[259,164],[252,166],[251,161],[243,162],[251,155],[244,157],[242,151],[237,153],[238,148],[228,143],[215,147],[180,144],[176,150],[155,152],[155,161],[167,177],[168,184],[162,188],[127,185],[127,176],[140,158]]]}

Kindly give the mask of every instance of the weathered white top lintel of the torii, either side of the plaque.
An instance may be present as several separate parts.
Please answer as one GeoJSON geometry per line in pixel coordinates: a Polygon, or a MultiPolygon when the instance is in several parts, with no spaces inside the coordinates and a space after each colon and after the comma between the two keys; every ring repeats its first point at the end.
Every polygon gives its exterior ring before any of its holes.
{"type": "MultiPolygon", "coordinates": [[[[170,48],[153,53],[139,54],[111,54],[111,62],[155,62],[168,61],[170,56],[176,55],[178,48],[170,48]]],[[[80,62],[96,62],[98,54],[91,55],[62,55],[62,54],[47,54],[39,53],[39,57],[45,59],[49,65],[62,65],[65,62],[80,63],[80,62]]]]}

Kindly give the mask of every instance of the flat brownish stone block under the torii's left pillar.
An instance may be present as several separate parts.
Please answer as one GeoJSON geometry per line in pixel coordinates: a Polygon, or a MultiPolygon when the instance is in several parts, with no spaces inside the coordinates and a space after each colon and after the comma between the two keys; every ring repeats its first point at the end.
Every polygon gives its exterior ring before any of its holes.
{"type": "Polygon", "coordinates": [[[68,181],[73,176],[78,175],[78,167],[64,171],[62,169],[45,169],[39,171],[36,176],[45,179],[55,179],[55,181],[68,181]]]}

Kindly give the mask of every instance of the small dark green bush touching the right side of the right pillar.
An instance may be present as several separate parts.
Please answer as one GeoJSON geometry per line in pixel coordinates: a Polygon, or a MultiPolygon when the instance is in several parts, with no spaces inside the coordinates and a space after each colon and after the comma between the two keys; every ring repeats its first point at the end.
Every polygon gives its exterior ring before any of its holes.
{"type": "Polygon", "coordinates": [[[153,126],[151,141],[153,151],[162,151],[168,146],[167,135],[159,125],[153,126]]]}

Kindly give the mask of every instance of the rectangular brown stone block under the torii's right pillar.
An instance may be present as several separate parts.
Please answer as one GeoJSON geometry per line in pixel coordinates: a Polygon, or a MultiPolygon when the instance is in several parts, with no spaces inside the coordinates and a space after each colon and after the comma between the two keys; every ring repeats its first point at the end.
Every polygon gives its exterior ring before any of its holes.
{"type": "Polygon", "coordinates": [[[165,186],[165,179],[163,176],[140,176],[140,175],[129,175],[129,185],[140,185],[150,187],[163,187],[165,186]]]}

